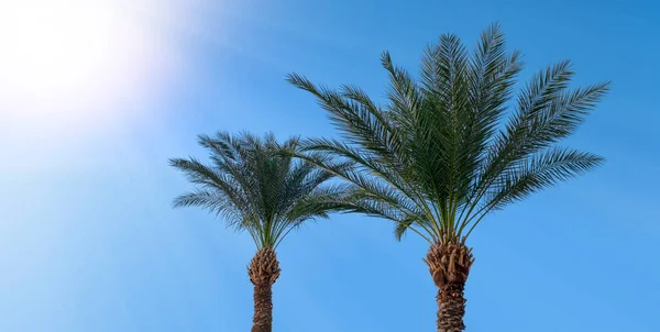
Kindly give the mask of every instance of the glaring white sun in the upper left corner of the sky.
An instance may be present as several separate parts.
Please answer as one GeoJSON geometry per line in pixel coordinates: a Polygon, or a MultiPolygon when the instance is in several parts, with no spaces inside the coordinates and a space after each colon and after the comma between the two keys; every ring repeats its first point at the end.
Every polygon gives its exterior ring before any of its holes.
{"type": "Polygon", "coordinates": [[[86,123],[121,113],[110,109],[147,90],[172,65],[163,34],[141,15],[156,11],[155,2],[144,3],[0,1],[3,118],[86,123]]]}

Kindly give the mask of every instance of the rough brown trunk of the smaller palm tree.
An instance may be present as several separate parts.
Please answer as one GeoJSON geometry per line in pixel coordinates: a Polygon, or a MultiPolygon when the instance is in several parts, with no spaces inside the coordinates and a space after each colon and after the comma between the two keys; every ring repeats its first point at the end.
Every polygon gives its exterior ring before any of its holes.
{"type": "Polygon", "coordinates": [[[254,285],[254,317],[252,332],[273,331],[273,284],[279,277],[279,262],[273,248],[261,248],[248,267],[254,285]]]}

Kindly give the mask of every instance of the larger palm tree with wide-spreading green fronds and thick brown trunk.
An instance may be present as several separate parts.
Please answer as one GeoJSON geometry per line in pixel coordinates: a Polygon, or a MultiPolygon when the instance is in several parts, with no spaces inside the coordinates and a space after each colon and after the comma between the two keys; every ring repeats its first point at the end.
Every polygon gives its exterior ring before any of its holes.
{"type": "Polygon", "coordinates": [[[389,77],[384,104],[356,86],[330,89],[288,76],[343,137],[307,140],[301,151],[314,154],[300,157],[349,185],[346,200],[332,208],[394,221],[398,240],[411,231],[429,243],[424,261],[439,288],[438,331],[463,331],[470,234],[490,212],[604,162],[557,143],[584,121],[608,82],[570,88],[564,60],[534,76],[514,100],[520,53],[505,49],[498,24],[474,51],[441,35],[425,49],[418,79],[387,52],[382,64],[389,77]]]}

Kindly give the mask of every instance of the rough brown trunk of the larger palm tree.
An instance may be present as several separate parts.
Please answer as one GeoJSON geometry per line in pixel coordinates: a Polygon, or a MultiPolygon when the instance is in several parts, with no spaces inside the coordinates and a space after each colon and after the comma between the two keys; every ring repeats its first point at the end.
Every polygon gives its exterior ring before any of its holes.
{"type": "Polygon", "coordinates": [[[474,263],[472,248],[462,242],[436,243],[429,248],[425,263],[438,286],[438,332],[465,330],[465,298],[463,289],[474,263]]]}

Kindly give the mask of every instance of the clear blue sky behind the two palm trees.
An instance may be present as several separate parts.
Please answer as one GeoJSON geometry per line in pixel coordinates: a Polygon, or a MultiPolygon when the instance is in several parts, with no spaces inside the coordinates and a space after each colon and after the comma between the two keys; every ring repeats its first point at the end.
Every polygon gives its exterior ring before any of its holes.
{"type": "MultiPolygon", "coordinates": [[[[57,104],[0,95],[0,331],[249,331],[253,243],[202,211],[172,210],[189,185],[167,158],[202,156],[196,134],[217,130],[333,135],[287,73],[381,97],[382,51],[415,71],[440,33],[474,45],[494,21],[525,54],[521,78],[571,58],[578,84],[613,81],[568,142],[608,161],[480,225],[468,331],[660,331],[652,1],[161,4],[123,8],[164,51],[141,53],[157,66],[139,78],[117,67],[140,82],[131,93],[84,106],[82,90],[57,104]]],[[[280,246],[274,330],[435,331],[426,250],[376,219],[308,224],[280,246]]]]}

